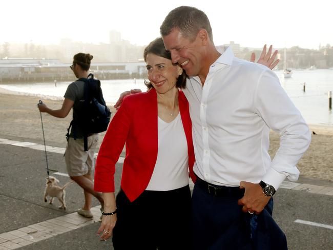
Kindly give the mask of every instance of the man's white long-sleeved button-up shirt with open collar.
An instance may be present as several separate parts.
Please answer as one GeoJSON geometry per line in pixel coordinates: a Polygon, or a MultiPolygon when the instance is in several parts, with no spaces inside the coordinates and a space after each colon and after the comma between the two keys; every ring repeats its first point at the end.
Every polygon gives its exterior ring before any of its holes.
{"type": "Polygon", "coordinates": [[[227,186],[263,180],[275,189],[285,177],[298,179],[296,163],[311,136],[273,71],[236,58],[228,48],[210,67],[203,87],[199,77],[190,77],[183,92],[190,103],[199,178],[227,186]],[[273,161],[270,129],[281,136],[273,161]]]}

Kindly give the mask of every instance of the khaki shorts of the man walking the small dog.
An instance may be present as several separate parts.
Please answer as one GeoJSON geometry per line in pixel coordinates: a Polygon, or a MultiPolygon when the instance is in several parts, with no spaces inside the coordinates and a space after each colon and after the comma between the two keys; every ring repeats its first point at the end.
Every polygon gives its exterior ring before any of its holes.
{"type": "Polygon", "coordinates": [[[98,134],[88,137],[88,151],[84,149],[84,139],[70,137],[65,152],[65,162],[69,176],[92,174],[94,167],[94,149],[97,146],[98,134]]]}

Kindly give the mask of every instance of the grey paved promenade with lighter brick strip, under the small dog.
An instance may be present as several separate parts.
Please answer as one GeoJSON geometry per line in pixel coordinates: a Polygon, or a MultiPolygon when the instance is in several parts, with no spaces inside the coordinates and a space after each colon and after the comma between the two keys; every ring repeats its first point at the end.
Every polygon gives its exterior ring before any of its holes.
{"type": "MultiPolygon", "coordinates": [[[[64,148],[47,146],[50,175],[64,185],[64,148]]],[[[84,202],[74,183],[66,189],[67,210],[58,200],[43,200],[46,183],[44,145],[0,138],[1,249],[113,249],[96,235],[100,211],[94,199],[92,219],[77,215],[84,202]]],[[[117,163],[119,189],[123,157],[117,163]]],[[[330,249],[333,245],[333,183],[300,178],[283,182],[275,195],[274,217],[287,235],[289,249],[330,249]]],[[[171,238],[172,240],[172,234],[171,238]]]]}

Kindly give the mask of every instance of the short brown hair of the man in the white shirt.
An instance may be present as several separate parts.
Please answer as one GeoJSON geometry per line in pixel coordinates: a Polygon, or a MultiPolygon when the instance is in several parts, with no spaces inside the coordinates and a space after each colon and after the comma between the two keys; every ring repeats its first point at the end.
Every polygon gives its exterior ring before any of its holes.
{"type": "Polygon", "coordinates": [[[159,28],[160,34],[169,35],[175,28],[190,41],[195,40],[200,29],[205,29],[213,43],[211,23],[206,14],[197,8],[180,6],[170,11],[159,28]]]}

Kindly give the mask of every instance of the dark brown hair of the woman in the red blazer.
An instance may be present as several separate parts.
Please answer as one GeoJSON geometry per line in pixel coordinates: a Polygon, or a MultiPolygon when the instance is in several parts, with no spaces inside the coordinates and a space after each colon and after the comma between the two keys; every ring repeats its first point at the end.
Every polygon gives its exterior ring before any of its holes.
{"type": "MultiPolygon", "coordinates": [[[[147,63],[148,54],[154,54],[154,55],[171,60],[170,51],[165,50],[162,37],[156,38],[155,40],[151,41],[151,43],[147,47],[145,47],[145,49],[143,51],[143,58],[146,63],[147,63]]],[[[153,88],[153,85],[148,80],[144,80],[144,84],[145,84],[145,86],[147,86],[147,88],[149,90],[151,88],[153,88]]],[[[180,89],[184,89],[185,86],[186,86],[186,73],[183,70],[182,74],[180,76],[178,76],[178,78],[177,78],[176,87],[180,88],[180,89]]]]}

